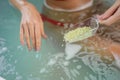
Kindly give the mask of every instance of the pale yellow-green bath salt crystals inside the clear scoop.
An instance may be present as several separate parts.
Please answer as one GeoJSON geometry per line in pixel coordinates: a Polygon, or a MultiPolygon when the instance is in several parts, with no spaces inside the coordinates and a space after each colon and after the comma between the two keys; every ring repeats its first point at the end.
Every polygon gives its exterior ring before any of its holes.
{"type": "Polygon", "coordinates": [[[82,27],[75,30],[71,30],[64,35],[66,42],[76,42],[79,40],[84,40],[93,35],[91,27],[82,27]]]}

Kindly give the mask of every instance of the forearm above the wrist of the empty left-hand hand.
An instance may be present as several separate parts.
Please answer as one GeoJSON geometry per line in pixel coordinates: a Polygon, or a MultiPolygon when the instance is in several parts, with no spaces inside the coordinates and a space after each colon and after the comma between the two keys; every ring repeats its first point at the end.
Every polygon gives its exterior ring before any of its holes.
{"type": "Polygon", "coordinates": [[[21,11],[27,5],[27,0],[10,0],[10,3],[21,11]]]}

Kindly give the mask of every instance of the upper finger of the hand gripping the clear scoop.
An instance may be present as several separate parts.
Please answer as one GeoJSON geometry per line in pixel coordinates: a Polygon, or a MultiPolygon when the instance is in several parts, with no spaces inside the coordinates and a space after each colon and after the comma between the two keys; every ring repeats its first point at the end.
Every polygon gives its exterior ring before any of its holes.
{"type": "Polygon", "coordinates": [[[113,4],[113,6],[109,8],[104,14],[99,16],[99,19],[104,20],[104,19],[109,18],[110,16],[114,14],[114,12],[118,9],[118,7],[119,7],[118,3],[113,4]]]}

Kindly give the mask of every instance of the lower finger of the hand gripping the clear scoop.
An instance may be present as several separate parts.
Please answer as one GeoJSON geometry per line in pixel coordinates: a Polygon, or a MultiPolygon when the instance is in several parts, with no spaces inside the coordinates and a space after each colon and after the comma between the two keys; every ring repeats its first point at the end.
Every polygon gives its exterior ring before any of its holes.
{"type": "Polygon", "coordinates": [[[100,21],[101,24],[106,24],[106,25],[111,25],[117,21],[119,21],[120,19],[120,11],[118,10],[114,15],[112,15],[110,18],[106,19],[106,20],[102,20],[100,21]]]}

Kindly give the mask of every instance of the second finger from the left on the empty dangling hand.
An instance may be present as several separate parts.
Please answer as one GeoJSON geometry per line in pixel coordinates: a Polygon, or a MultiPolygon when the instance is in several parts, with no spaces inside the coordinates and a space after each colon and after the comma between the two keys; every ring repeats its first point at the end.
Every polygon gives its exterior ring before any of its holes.
{"type": "Polygon", "coordinates": [[[27,24],[23,25],[23,30],[24,30],[24,35],[25,35],[25,39],[26,39],[26,44],[27,44],[28,49],[31,50],[31,47],[30,47],[30,36],[29,36],[28,27],[29,26],[27,24]]]}

